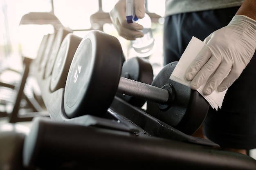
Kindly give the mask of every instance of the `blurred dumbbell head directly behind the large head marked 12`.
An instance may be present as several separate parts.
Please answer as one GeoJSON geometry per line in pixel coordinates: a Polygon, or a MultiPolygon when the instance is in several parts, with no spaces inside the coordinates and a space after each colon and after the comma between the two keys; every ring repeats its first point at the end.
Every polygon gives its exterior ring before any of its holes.
{"type": "Polygon", "coordinates": [[[61,43],[58,51],[56,61],[52,70],[50,90],[56,91],[59,88],[65,88],[67,73],[70,68],[70,64],[74,57],[77,47],[79,46],[82,38],[69,33],[61,43]]]}

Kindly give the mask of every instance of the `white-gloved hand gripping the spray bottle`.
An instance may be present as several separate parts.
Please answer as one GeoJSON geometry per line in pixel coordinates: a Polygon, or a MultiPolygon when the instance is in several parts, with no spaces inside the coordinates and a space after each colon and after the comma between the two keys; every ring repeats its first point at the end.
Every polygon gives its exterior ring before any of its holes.
{"type": "MultiPolygon", "coordinates": [[[[135,14],[137,18],[144,18],[145,5],[144,0],[134,0],[135,14]]],[[[126,22],[126,0],[119,0],[115,7],[109,13],[115,29],[120,36],[127,40],[135,40],[135,38],[143,37],[141,31],[143,26],[137,23],[128,24],[126,22]]]]}

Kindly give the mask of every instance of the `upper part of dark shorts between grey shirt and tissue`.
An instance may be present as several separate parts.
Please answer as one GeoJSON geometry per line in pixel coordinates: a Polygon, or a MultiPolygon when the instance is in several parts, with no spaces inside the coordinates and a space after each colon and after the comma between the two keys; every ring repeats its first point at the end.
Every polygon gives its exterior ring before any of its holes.
{"type": "Polygon", "coordinates": [[[238,7],[181,13],[164,20],[164,65],[178,61],[192,36],[204,40],[209,34],[226,26],[238,7]]]}

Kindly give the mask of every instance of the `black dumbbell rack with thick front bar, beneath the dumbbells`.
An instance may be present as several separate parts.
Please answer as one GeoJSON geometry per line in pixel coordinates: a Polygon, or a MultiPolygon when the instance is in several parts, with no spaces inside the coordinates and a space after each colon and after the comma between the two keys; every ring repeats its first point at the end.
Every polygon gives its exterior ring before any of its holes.
{"type": "Polygon", "coordinates": [[[35,74],[50,118],[34,118],[25,139],[25,166],[55,170],[256,168],[251,157],[186,135],[119,97],[103,117],[87,113],[69,119],[63,109],[65,89],[51,92],[51,77],[35,74]]]}

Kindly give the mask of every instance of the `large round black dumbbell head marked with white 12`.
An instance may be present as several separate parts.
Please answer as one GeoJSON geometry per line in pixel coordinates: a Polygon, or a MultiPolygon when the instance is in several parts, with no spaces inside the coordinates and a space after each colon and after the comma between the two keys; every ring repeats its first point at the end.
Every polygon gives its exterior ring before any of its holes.
{"type": "Polygon", "coordinates": [[[90,31],[79,44],[64,92],[69,118],[102,116],[115,97],[123,63],[119,40],[101,31],[90,31]]]}

